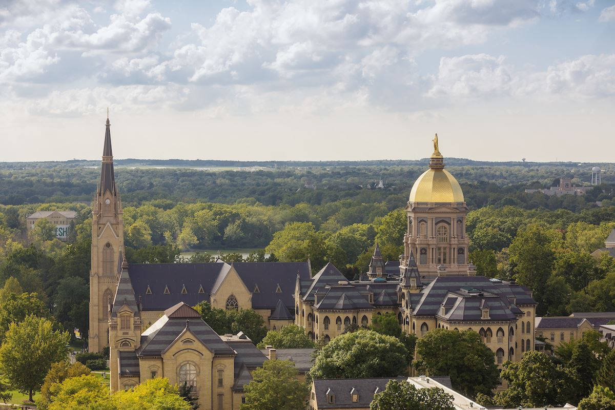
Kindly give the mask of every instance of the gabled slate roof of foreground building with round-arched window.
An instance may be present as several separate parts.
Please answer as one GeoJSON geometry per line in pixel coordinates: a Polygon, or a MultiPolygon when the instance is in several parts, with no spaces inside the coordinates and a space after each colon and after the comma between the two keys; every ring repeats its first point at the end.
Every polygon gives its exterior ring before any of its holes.
{"type": "Polygon", "coordinates": [[[165,310],[161,318],[141,333],[141,347],[137,350],[137,356],[162,355],[185,333],[186,328],[215,355],[234,355],[234,350],[204,320],[195,317],[198,315],[194,315],[195,312],[184,302],[165,310]],[[189,323],[186,320],[189,320],[189,323]]]}

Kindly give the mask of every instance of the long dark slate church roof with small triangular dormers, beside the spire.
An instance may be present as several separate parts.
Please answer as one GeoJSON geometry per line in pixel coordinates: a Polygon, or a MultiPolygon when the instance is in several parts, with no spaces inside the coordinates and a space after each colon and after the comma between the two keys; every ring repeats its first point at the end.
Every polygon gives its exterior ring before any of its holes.
{"type": "MultiPolygon", "coordinates": [[[[296,275],[302,282],[310,277],[308,262],[239,262],[232,266],[253,292],[253,309],[274,309],[280,299],[294,307],[296,275]],[[256,285],[258,293],[254,293],[256,285]],[[278,285],[281,292],[276,292],[278,285]]],[[[224,262],[129,264],[129,275],[135,295],[141,296],[142,310],[164,310],[180,301],[195,306],[208,300],[230,269],[224,262]],[[181,293],[184,286],[186,293],[181,293]]]]}

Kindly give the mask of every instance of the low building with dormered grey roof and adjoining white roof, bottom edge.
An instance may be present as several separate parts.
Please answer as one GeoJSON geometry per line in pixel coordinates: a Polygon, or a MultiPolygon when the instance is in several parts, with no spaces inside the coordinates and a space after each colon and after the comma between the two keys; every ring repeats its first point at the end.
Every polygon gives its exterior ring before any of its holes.
{"type": "MultiPolygon", "coordinates": [[[[341,409],[369,409],[374,396],[385,390],[389,380],[408,382],[416,388],[438,387],[445,393],[453,396],[453,406],[455,409],[477,409],[486,410],[484,406],[467,398],[451,387],[451,379],[448,376],[438,377],[383,377],[372,379],[315,379],[312,382],[310,392],[309,407],[312,410],[341,410],[341,409]]],[[[490,406],[493,410],[509,410],[498,406],[490,406]]],[[[576,407],[566,404],[563,407],[541,407],[545,410],[575,410],[576,407]]],[[[518,408],[510,410],[530,410],[528,408],[518,408]]]]}

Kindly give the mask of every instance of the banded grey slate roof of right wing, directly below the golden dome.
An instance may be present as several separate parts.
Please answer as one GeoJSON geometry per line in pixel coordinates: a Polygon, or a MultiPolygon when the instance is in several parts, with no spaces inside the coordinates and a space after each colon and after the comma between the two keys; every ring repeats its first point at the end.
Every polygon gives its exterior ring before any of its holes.
{"type": "MultiPolygon", "coordinates": [[[[492,282],[483,276],[442,276],[435,278],[414,298],[411,310],[415,316],[440,316],[440,307],[447,298],[458,298],[448,312],[449,320],[480,320],[482,299],[490,308],[490,320],[514,320],[522,313],[516,305],[536,304],[525,286],[509,282],[492,282]]],[[[441,316],[440,316],[441,317],[441,316]]]]}

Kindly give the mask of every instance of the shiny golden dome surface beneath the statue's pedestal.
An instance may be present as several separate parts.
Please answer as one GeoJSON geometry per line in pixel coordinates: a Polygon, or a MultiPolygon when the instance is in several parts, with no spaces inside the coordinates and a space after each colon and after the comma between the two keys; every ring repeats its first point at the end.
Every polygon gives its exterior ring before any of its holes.
{"type": "Polygon", "coordinates": [[[464,202],[457,179],[442,168],[429,168],[416,179],[410,202],[464,202]]]}

